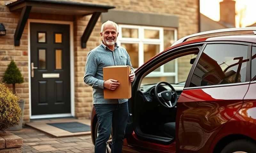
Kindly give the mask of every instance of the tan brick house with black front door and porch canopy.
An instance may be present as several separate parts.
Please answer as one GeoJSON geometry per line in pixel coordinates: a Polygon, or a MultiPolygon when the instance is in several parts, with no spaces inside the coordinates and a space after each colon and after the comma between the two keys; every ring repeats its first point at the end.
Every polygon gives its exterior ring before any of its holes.
{"type": "MultiPolygon", "coordinates": [[[[119,25],[118,44],[138,68],[177,39],[199,32],[199,14],[199,0],[0,1],[6,29],[0,35],[0,79],[14,60],[25,79],[16,85],[26,100],[25,121],[90,118],[92,87],[83,81],[84,69],[88,52],[101,42],[103,22],[119,25]]],[[[179,82],[188,70],[182,61],[173,67],[170,74],[179,82]]]]}

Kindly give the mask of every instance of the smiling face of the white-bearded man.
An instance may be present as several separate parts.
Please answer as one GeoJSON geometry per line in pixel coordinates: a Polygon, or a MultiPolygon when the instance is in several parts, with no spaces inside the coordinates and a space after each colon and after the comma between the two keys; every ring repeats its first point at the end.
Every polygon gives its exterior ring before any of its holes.
{"type": "Polygon", "coordinates": [[[116,26],[111,23],[105,24],[103,27],[103,31],[100,33],[100,35],[103,43],[106,46],[109,47],[115,45],[116,38],[118,36],[118,33],[116,32],[116,26]]]}

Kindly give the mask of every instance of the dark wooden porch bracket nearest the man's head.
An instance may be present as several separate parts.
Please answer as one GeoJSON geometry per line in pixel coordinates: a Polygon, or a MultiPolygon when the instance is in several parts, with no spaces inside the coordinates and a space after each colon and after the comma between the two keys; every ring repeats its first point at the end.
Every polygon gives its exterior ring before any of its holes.
{"type": "Polygon", "coordinates": [[[81,37],[81,47],[82,48],[86,48],[86,42],[88,41],[88,39],[92,33],[92,30],[93,30],[95,24],[97,23],[97,20],[100,17],[100,14],[101,14],[101,12],[94,12],[92,14],[92,17],[84,30],[83,36],[81,37]]]}

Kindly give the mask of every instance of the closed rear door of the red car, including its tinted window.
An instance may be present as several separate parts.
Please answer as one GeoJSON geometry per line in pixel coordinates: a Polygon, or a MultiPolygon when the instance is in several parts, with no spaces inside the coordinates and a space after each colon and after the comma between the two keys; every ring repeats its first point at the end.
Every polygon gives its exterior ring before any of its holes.
{"type": "Polygon", "coordinates": [[[212,152],[212,140],[243,104],[250,81],[250,47],[209,42],[201,50],[177,103],[177,152],[212,152]]]}

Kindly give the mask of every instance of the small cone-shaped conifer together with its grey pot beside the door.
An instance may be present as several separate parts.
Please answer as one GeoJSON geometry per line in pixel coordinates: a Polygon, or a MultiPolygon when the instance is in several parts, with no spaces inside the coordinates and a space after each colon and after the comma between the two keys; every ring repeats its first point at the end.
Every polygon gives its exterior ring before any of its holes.
{"type": "MultiPolygon", "coordinates": [[[[11,61],[10,64],[8,65],[6,71],[4,72],[4,77],[3,77],[3,82],[6,84],[12,84],[12,93],[15,95],[15,84],[21,84],[24,82],[23,77],[21,76],[20,70],[18,69],[17,65],[15,64],[14,61],[11,61]]],[[[15,127],[11,127],[8,130],[20,130],[22,129],[22,123],[23,123],[23,112],[24,112],[24,105],[25,105],[25,100],[20,99],[19,101],[19,106],[22,111],[22,115],[20,117],[19,124],[15,127]]]]}

